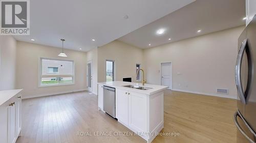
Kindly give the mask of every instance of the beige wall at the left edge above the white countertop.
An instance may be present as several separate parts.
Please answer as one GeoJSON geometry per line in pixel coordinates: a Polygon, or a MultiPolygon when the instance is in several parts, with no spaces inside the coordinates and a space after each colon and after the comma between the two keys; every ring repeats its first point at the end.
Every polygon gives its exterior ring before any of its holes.
{"type": "Polygon", "coordinates": [[[15,89],[16,40],[0,36],[0,91],[15,89]]]}

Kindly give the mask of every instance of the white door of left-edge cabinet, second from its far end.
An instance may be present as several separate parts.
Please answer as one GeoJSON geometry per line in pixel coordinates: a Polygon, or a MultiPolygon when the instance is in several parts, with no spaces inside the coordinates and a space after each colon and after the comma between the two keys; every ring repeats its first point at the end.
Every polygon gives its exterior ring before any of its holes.
{"type": "Polygon", "coordinates": [[[16,103],[8,106],[8,143],[16,141],[16,103]]]}

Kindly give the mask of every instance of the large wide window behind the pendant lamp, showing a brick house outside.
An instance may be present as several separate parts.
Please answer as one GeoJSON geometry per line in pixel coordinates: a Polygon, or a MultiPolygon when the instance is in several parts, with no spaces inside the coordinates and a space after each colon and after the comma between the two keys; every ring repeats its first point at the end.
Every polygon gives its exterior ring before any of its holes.
{"type": "Polygon", "coordinates": [[[41,58],[39,85],[66,85],[74,83],[74,62],[41,58]]]}

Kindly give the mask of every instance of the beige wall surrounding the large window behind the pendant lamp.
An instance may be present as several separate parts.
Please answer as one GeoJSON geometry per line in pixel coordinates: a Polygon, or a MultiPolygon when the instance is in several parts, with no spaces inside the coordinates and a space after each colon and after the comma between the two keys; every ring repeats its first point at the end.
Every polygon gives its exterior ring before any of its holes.
{"type": "Polygon", "coordinates": [[[57,56],[61,52],[60,48],[17,41],[16,87],[24,89],[23,98],[86,90],[87,53],[68,49],[64,51],[67,58],[57,56]],[[38,65],[41,57],[73,60],[75,84],[38,88],[38,65]]]}

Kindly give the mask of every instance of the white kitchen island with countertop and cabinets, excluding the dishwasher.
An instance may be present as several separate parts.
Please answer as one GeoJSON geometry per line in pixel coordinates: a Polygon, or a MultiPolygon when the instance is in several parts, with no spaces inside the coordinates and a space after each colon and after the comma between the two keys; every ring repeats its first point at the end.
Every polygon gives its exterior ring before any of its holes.
{"type": "Polygon", "coordinates": [[[115,88],[115,113],[118,122],[151,142],[163,129],[163,90],[166,86],[109,81],[98,83],[98,107],[103,110],[103,86],[115,88]]]}

